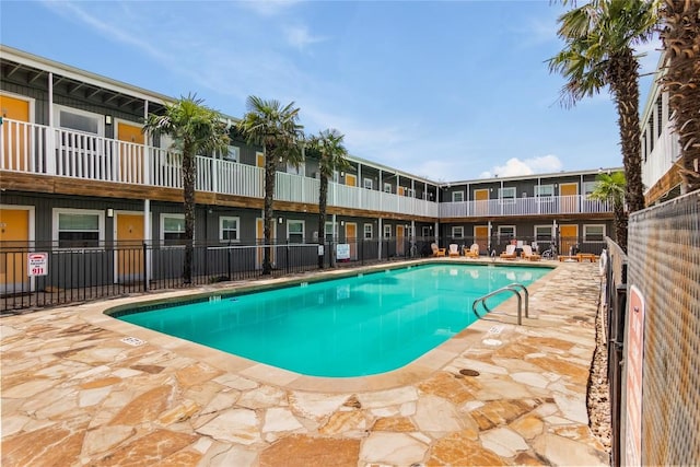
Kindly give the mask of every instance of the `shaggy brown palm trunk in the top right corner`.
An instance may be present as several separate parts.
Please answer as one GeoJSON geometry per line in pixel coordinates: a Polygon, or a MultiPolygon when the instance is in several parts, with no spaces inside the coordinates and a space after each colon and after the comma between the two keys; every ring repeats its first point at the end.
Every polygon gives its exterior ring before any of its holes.
{"type": "Polygon", "coordinates": [[[666,70],[661,82],[680,143],[684,192],[700,189],[700,0],[666,0],[660,10],[666,70]]]}

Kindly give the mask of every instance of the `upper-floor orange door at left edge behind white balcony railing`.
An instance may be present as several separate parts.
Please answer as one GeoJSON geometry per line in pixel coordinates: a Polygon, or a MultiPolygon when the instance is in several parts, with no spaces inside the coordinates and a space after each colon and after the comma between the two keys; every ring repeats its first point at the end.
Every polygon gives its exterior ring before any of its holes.
{"type": "Polygon", "coordinates": [[[30,127],[20,124],[30,121],[30,102],[21,98],[0,95],[2,118],[18,121],[2,124],[2,168],[9,171],[26,171],[28,168],[30,127]]]}

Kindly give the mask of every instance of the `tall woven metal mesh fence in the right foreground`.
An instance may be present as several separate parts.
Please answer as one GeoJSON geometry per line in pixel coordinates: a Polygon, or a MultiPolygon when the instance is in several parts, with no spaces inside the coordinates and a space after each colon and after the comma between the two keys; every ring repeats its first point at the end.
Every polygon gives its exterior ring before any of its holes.
{"type": "Polygon", "coordinates": [[[612,465],[698,465],[700,191],[630,215],[607,258],[612,465]]]}

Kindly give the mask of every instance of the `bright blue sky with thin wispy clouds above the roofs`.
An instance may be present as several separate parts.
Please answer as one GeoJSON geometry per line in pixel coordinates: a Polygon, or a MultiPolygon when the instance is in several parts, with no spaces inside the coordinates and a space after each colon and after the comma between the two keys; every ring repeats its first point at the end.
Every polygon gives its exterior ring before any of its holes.
{"type": "MultiPolygon", "coordinates": [[[[562,108],[549,1],[7,1],[0,42],[241,117],[295,102],[307,133],[436,182],[619,166],[607,93],[562,108]]],[[[653,71],[658,42],[643,46],[653,71]]],[[[642,81],[641,106],[650,78],[642,81]]]]}

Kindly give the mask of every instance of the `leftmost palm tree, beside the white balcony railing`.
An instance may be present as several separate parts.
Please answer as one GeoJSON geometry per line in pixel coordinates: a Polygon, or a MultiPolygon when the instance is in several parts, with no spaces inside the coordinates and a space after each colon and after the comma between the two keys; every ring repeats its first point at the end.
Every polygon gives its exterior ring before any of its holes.
{"type": "Polygon", "coordinates": [[[192,255],[195,238],[195,180],[197,154],[210,154],[225,150],[229,144],[226,126],[221,114],[202,105],[203,100],[195,94],[180,97],[173,104],[165,104],[163,115],[150,114],[143,125],[143,132],[154,137],[170,136],[183,155],[183,198],[185,210],[185,264],[183,281],[192,280],[192,255]]]}

